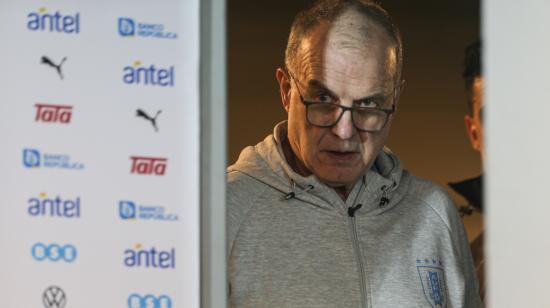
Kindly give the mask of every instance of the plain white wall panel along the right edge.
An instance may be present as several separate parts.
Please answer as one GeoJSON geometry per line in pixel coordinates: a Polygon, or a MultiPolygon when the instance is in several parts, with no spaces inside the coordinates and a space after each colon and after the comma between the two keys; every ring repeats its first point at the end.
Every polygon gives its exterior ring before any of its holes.
{"type": "Polygon", "coordinates": [[[490,307],[550,307],[550,2],[484,2],[490,307]]]}

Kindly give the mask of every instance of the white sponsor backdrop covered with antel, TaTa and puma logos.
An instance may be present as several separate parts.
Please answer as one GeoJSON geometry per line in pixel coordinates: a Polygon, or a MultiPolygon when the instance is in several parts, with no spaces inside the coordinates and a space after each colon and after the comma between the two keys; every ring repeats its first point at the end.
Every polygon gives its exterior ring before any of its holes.
{"type": "Polygon", "coordinates": [[[2,307],[198,307],[199,1],[0,18],[2,307]]]}

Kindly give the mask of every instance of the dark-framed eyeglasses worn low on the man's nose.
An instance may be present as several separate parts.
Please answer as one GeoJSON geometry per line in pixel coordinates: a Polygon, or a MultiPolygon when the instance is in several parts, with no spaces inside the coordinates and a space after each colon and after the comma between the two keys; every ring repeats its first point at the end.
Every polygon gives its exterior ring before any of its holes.
{"type": "MultiPolygon", "coordinates": [[[[379,107],[363,107],[353,106],[347,107],[336,103],[319,102],[319,101],[306,101],[302,96],[298,82],[290,72],[288,72],[290,78],[294,80],[296,89],[300,95],[300,101],[306,106],[306,119],[307,122],[313,126],[329,128],[333,127],[340,121],[342,115],[346,111],[351,112],[351,120],[353,126],[361,132],[379,132],[386,124],[392,113],[395,112],[395,103],[392,104],[390,109],[384,109],[379,107]]],[[[376,104],[378,106],[383,105],[387,101],[387,98],[378,98],[378,101],[365,100],[360,104],[376,104]],[[378,104],[377,104],[378,103],[378,104]]]]}

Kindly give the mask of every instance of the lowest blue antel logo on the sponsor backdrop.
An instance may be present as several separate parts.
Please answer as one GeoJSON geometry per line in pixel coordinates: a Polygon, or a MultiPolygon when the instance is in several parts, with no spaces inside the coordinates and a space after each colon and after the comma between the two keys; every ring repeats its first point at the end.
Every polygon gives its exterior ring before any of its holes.
{"type": "Polygon", "coordinates": [[[155,247],[145,249],[141,244],[124,251],[124,265],[127,267],[176,268],[176,249],[157,250],[155,247]]]}

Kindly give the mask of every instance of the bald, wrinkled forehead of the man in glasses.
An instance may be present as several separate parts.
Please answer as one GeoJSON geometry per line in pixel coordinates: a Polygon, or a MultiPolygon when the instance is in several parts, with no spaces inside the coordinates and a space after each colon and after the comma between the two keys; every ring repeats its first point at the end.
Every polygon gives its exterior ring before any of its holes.
{"type": "Polygon", "coordinates": [[[302,40],[296,54],[297,61],[294,63],[294,68],[297,76],[295,77],[299,78],[304,85],[308,84],[308,79],[317,79],[327,88],[326,82],[329,77],[355,87],[363,87],[365,85],[360,82],[370,81],[367,82],[369,88],[365,88],[369,93],[365,94],[387,92],[387,85],[393,81],[394,72],[396,72],[397,59],[394,44],[376,24],[367,20],[366,23],[357,25],[360,26],[359,29],[356,24],[357,22],[349,20],[322,24],[309,33],[302,40]],[[386,48],[386,50],[380,48],[386,48]],[[331,57],[336,56],[337,63],[334,63],[334,59],[333,61],[327,59],[329,54],[331,57]],[[345,56],[342,56],[343,54],[345,56]],[[368,69],[381,72],[384,76],[362,72],[359,70],[359,64],[350,63],[353,60],[361,61],[361,59],[373,57],[379,60],[368,69]],[[327,67],[329,63],[332,67],[327,67]]]}

